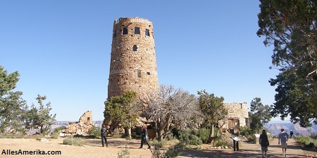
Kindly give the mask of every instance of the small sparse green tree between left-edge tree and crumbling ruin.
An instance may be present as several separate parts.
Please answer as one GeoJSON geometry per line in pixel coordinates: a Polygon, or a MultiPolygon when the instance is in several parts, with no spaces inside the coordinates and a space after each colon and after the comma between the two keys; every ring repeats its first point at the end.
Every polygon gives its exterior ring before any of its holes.
{"type": "Polygon", "coordinates": [[[27,111],[25,117],[25,128],[26,129],[39,129],[39,134],[48,134],[51,125],[56,121],[56,114],[49,114],[52,110],[51,103],[43,104],[43,100],[46,100],[46,96],[37,95],[37,103],[39,107],[37,108],[32,104],[31,109],[27,111]]]}

